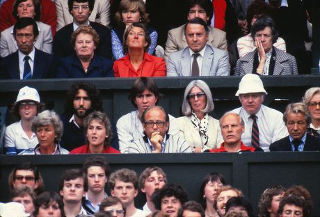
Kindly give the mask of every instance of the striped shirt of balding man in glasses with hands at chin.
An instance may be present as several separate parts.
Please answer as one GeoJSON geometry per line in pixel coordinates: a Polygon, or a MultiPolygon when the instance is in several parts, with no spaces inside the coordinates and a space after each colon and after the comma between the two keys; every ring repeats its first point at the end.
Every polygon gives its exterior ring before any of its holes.
{"type": "MultiPolygon", "coordinates": [[[[128,152],[130,154],[147,154],[152,153],[152,147],[148,141],[147,136],[143,136],[139,140],[130,143],[128,152]]],[[[162,153],[191,153],[189,143],[177,135],[166,134],[166,142],[163,143],[162,153]]]]}

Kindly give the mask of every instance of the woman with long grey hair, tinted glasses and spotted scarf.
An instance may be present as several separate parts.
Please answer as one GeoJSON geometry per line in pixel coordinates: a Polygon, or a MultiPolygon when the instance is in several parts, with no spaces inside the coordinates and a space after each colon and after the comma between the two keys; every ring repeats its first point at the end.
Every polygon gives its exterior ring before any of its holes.
{"type": "Polygon", "coordinates": [[[204,152],[220,147],[223,142],[219,121],[208,115],[214,110],[211,91],[205,81],[194,80],[184,90],[183,117],[177,118],[180,137],[193,152],[204,152]]]}

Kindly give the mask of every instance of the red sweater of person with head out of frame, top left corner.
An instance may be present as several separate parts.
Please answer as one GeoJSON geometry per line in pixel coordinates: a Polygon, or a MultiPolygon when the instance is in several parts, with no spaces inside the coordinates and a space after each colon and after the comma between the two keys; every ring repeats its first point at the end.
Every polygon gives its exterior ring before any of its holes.
{"type": "MultiPolygon", "coordinates": [[[[6,0],[0,8],[0,32],[13,26],[17,20],[13,17],[13,3],[15,0],[6,0]]],[[[51,26],[52,35],[56,33],[56,5],[51,0],[40,0],[40,22],[51,26]]]]}

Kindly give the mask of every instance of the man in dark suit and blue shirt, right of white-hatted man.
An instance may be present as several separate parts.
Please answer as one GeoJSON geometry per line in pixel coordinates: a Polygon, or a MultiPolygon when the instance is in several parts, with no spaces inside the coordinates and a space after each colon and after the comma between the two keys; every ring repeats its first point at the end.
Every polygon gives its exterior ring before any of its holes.
{"type": "Polygon", "coordinates": [[[320,138],[307,134],[309,120],[305,113],[303,103],[297,102],[289,104],[283,114],[283,120],[287,126],[289,136],[272,143],[270,145],[271,152],[320,150],[320,138]]]}

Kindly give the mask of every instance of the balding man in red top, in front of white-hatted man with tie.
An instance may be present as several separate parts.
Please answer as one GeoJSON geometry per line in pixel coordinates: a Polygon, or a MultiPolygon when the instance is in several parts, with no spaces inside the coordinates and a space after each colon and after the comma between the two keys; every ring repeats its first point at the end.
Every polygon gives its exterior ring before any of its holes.
{"type": "Polygon", "coordinates": [[[244,122],[237,113],[225,113],[220,119],[223,143],[215,150],[205,152],[263,152],[260,147],[248,147],[243,145],[241,135],[244,132],[244,122]]]}

